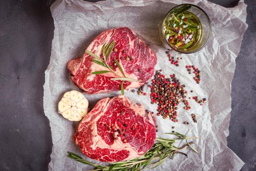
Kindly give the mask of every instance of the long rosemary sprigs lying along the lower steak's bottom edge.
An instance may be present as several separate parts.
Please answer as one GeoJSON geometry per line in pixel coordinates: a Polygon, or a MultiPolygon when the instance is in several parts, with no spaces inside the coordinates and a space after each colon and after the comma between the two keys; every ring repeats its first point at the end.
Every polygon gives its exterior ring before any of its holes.
{"type": "Polygon", "coordinates": [[[146,152],[144,155],[128,161],[110,163],[110,165],[108,166],[89,162],[87,160],[82,159],[80,156],[73,152],[68,152],[67,156],[83,164],[94,166],[95,169],[92,171],[141,171],[144,169],[156,168],[159,165],[161,165],[167,158],[171,157],[173,159],[175,154],[183,154],[187,158],[187,154],[181,152],[180,150],[186,149],[188,147],[198,152],[191,146],[192,144],[194,144],[194,141],[191,141],[189,143],[187,142],[188,139],[194,139],[197,137],[187,137],[183,134],[180,134],[179,132],[168,134],[174,134],[179,138],[156,138],[157,143],[155,143],[153,148],[146,152]],[[177,140],[186,140],[186,145],[177,148],[174,145],[177,140]]]}

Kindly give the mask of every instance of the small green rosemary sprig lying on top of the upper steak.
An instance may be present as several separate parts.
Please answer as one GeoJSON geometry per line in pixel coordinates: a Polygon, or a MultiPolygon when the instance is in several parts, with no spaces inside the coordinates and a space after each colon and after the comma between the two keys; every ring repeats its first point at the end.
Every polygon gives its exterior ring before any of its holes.
{"type": "Polygon", "coordinates": [[[103,74],[103,73],[107,73],[107,72],[112,72],[113,74],[115,74],[117,76],[117,78],[111,78],[110,80],[120,80],[122,81],[120,88],[121,88],[121,92],[124,95],[125,94],[125,90],[124,90],[124,81],[129,81],[129,82],[140,82],[140,80],[135,80],[132,78],[128,78],[124,72],[124,69],[122,68],[122,66],[119,64],[119,62],[115,59],[115,64],[118,66],[118,68],[120,69],[120,71],[122,72],[123,76],[120,76],[119,74],[117,74],[114,69],[107,64],[107,60],[110,56],[110,53],[112,52],[114,46],[115,46],[115,41],[109,43],[104,43],[102,46],[102,56],[103,56],[103,60],[101,57],[95,55],[94,53],[92,53],[91,51],[85,50],[86,53],[88,53],[89,55],[91,55],[92,57],[94,57],[95,59],[92,60],[92,62],[96,63],[96,64],[100,64],[106,68],[109,69],[109,71],[107,70],[102,70],[102,71],[95,71],[92,72],[91,74],[103,74]]]}

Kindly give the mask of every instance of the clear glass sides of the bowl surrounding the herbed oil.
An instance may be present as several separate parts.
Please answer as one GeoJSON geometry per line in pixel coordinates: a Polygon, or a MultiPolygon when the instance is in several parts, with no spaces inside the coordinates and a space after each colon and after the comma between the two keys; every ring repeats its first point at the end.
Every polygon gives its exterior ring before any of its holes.
{"type": "Polygon", "coordinates": [[[210,22],[209,17],[207,16],[207,14],[205,13],[205,11],[202,8],[200,8],[194,4],[184,3],[184,4],[180,4],[180,5],[173,7],[167,13],[165,18],[161,21],[161,23],[159,24],[159,38],[160,38],[161,42],[163,43],[163,45],[166,48],[171,47],[173,50],[175,50],[179,53],[189,54],[189,53],[194,53],[194,52],[201,50],[205,46],[205,44],[209,41],[210,35],[211,35],[211,22],[210,22]],[[199,38],[195,41],[195,43],[193,43],[188,48],[181,49],[177,46],[170,44],[168,42],[168,40],[165,38],[164,22],[167,20],[169,14],[172,14],[175,10],[177,11],[177,9],[179,10],[188,5],[191,5],[191,7],[186,11],[194,14],[198,18],[198,20],[201,22],[202,28],[198,29],[198,31],[197,31],[199,38]]]}

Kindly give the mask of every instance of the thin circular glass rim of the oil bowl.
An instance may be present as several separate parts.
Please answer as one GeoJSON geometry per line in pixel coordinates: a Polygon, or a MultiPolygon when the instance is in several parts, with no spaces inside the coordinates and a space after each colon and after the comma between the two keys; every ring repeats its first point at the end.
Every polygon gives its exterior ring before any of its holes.
{"type": "Polygon", "coordinates": [[[205,45],[208,43],[208,41],[210,40],[210,37],[211,37],[211,21],[210,21],[210,18],[209,18],[209,16],[205,13],[205,11],[202,9],[202,8],[200,8],[199,6],[197,6],[197,5],[194,5],[194,4],[191,4],[191,3],[182,3],[182,4],[179,4],[179,5],[176,5],[176,6],[174,6],[170,11],[168,11],[168,13],[166,14],[166,16],[165,16],[165,18],[164,18],[164,20],[163,20],[163,23],[162,23],[162,25],[161,25],[161,29],[162,29],[162,35],[163,35],[163,38],[164,38],[164,40],[165,40],[165,42],[173,49],[173,50],[175,50],[176,52],[179,52],[179,53],[183,53],[183,54],[191,54],[191,53],[195,53],[195,52],[198,52],[199,50],[201,50],[203,47],[205,47],[205,45]],[[206,40],[206,42],[205,42],[205,44],[203,45],[203,46],[201,46],[200,48],[198,48],[198,49],[196,49],[196,50],[194,50],[194,51],[191,51],[191,52],[183,52],[183,51],[179,51],[178,49],[175,49],[175,48],[173,48],[172,47],[172,45],[165,39],[165,36],[164,36],[164,31],[163,31],[163,27],[164,27],[164,21],[166,20],[166,18],[168,17],[168,15],[170,14],[170,12],[172,11],[172,10],[174,10],[175,8],[177,8],[177,7],[179,7],[179,6],[183,6],[183,5],[191,5],[191,6],[194,6],[194,7],[196,7],[196,8],[198,8],[198,9],[200,9],[204,14],[205,14],[205,16],[206,16],[206,18],[208,19],[208,21],[209,21],[209,25],[210,25],[210,34],[209,34],[209,37],[208,37],[208,39],[206,40]]]}

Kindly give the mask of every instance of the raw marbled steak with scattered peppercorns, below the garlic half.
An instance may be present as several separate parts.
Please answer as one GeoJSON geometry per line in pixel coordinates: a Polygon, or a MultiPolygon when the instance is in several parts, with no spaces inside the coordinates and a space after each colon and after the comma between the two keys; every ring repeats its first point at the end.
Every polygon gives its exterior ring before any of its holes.
{"type": "Polygon", "coordinates": [[[139,157],[154,144],[152,113],[125,96],[103,98],[82,119],[74,141],[82,152],[102,162],[139,157]]]}

